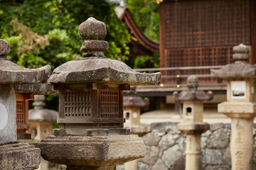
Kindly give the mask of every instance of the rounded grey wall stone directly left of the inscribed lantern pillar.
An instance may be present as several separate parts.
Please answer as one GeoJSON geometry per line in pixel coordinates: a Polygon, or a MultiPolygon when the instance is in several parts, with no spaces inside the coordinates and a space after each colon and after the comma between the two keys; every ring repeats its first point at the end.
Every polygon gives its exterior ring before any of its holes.
{"type": "Polygon", "coordinates": [[[230,141],[230,130],[227,128],[220,128],[215,130],[209,137],[208,148],[225,148],[230,141]]]}

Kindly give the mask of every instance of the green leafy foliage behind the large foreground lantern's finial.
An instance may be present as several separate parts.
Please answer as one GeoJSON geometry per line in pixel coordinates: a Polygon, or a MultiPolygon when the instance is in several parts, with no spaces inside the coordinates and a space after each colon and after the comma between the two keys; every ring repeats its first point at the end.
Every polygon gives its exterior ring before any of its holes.
{"type": "Polygon", "coordinates": [[[105,55],[127,59],[131,35],[106,0],[0,1],[0,36],[11,44],[12,62],[28,68],[50,64],[54,69],[81,56],[78,26],[90,16],[106,23],[105,55]]]}

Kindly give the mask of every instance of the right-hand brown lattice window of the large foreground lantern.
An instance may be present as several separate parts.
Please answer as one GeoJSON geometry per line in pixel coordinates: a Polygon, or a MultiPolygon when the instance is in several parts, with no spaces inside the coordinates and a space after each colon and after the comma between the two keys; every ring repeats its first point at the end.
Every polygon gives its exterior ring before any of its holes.
{"type": "Polygon", "coordinates": [[[100,116],[102,118],[119,117],[119,91],[100,91],[100,116]]]}

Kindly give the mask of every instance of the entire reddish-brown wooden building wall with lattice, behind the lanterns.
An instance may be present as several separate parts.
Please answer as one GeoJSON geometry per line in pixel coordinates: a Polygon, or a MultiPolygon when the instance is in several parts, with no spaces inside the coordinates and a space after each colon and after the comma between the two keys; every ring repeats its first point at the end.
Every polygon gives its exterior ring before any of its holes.
{"type": "MultiPolygon", "coordinates": [[[[255,0],[164,0],[160,4],[160,65],[193,67],[232,63],[232,48],[240,43],[252,47],[250,62],[255,64],[255,29],[255,0]]],[[[209,74],[209,70],[182,74],[209,74]]],[[[201,80],[212,82],[213,79],[201,80]]],[[[172,81],[175,80],[166,83],[172,81]]]]}

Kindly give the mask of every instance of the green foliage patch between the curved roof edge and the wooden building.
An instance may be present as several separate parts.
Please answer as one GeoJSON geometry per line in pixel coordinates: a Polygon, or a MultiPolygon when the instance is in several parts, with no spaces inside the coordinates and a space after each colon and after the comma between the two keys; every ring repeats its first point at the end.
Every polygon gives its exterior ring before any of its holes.
{"type": "Polygon", "coordinates": [[[127,8],[144,34],[159,41],[159,4],[155,0],[127,0],[127,8]]]}

